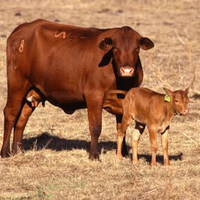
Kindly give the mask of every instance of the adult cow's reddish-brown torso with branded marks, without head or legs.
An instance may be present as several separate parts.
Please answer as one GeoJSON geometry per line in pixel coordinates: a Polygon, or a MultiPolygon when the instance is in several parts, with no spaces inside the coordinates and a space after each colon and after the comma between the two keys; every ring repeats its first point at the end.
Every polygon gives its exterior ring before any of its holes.
{"type": "Polygon", "coordinates": [[[8,79],[18,70],[53,104],[83,102],[85,86],[105,90],[115,80],[111,64],[98,66],[103,56],[98,44],[108,31],[45,20],[22,24],[8,38],[8,59],[14,61],[8,68],[16,69],[8,79]]]}

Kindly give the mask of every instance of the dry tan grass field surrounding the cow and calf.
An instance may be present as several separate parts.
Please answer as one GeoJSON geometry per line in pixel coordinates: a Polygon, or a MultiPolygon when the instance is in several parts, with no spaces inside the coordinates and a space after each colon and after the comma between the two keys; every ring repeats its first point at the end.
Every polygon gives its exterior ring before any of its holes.
{"type": "MultiPolygon", "coordinates": [[[[49,103],[31,116],[24,131],[24,153],[0,158],[0,199],[200,199],[200,2],[199,0],[0,0],[0,146],[7,98],[6,39],[19,24],[38,18],[83,27],[128,25],[155,43],[141,51],[143,86],[163,92],[170,84],[190,89],[190,113],[171,124],[169,167],[150,167],[146,131],[139,143],[139,165],[116,160],[115,117],[103,113],[101,161],[90,161],[87,110],[66,115],[49,103]],[[162,78],[166,85],[159,80],[162,78]]],[[[160,136],[159,136],[160,140],[160,136]]]]}

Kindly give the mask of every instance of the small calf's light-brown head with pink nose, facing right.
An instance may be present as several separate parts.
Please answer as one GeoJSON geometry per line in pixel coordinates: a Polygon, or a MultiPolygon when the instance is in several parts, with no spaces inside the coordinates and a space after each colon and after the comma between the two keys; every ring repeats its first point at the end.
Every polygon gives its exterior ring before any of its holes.
{"type": "Polygon", "coordinates": [[[175,113],[178,115],[188,114],[189,111],[187,105],[189,103],[189,98],[187,95],[189,88],[187,88],[186,90],[176,90],[174,92],[167,88],[164,88],[164,90],[170,96],[170,100],[172,101],[175,113]]]}

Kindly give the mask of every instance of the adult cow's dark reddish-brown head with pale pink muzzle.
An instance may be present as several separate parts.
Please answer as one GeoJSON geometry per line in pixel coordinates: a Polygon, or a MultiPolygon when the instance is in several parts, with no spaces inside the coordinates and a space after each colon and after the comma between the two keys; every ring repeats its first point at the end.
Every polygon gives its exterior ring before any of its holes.
{"type": "Polygon", "coordinates": [[[113,63],[120,77],[133,77],[140,48],[148,50],[153,47],[154,43],[149,38],[140,36],[130,27],[117,29],[112,37],[104,38],[99,44],[99,48],[107,54],[112,52],[113,63]]]}

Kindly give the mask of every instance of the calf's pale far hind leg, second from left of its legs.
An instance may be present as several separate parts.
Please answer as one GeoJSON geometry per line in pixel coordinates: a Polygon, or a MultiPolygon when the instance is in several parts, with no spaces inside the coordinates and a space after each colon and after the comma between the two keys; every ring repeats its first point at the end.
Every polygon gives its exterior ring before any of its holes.
{"type": "Polygon", "coordinates": [[[142,133],[144,132],[145,129],[145,125],[136,122],[135,124],[135,130],[132,133],[132,154],[133,154],[133,164],[138,164],[138,156],[137,156],[137,152],[138,152],[138,142],[140,140],[140,136],[142,135],[142,133]]]}

